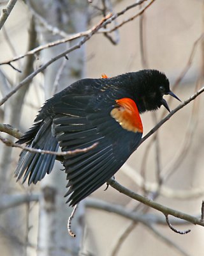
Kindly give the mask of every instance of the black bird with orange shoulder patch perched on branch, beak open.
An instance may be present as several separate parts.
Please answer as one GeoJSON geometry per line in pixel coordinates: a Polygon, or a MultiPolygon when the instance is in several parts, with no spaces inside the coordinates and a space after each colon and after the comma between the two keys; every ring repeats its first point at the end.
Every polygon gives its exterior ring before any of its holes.
{"type": "MultiPolygon", "coordinates": [[[[17,142],[43,150],[62,151],[98,145],[85,153],[64,156],[70,205],[90,195],[126,162],[142,138],[140,113],[168,104],[166,76],[141,70],[102,79],[82,79],[45,102],[34,125],[17,142]]],[[[23,150],[15,176],[36,184],[52,171],[55,156],[23,150]]]]}

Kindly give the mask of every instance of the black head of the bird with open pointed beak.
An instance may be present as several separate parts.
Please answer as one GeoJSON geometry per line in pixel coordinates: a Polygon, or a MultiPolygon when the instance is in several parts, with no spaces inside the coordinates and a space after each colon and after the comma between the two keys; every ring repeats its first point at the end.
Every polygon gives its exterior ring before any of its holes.
{"type": "Polygon", "coordinates": [[[161,105],[170,111],[166,100],[163,98],[164,95],[171,95],[180,100],[171,92],[170,83],[164,73],[157,70],[141,70],[138,75],[136,102],[138,102],[137,106],[140,113],[156,110],[161,105]]]}

